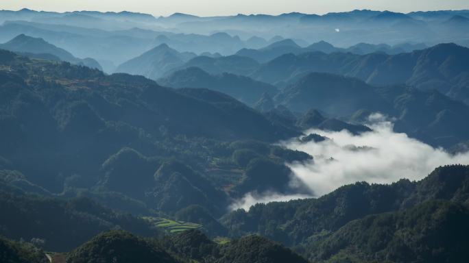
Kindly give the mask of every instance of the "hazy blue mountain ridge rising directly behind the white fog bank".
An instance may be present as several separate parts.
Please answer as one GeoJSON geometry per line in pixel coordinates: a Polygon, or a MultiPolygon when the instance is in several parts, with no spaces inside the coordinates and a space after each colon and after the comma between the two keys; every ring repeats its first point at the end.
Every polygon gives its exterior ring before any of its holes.
{"type": "MultiPolygon", "coordinates": [[[[312,55],[317,54],[312,53],[312,55]]],[[[324,53],[319,55],[326,56],[326,58],[332,56],[332,54],[325,55],[324,53]]],[[[339,53],[335,53],[335,55],[339,56],[341,60],[345,60],[349,55],[353,56],[352,58],[357,58],[356,55],[351,54],[344,55],[345,58],[341,58],[342,55],[339,55],[339,53]]],[[[381,58],[381,55],[376,56],[381,58]]],[[[364,62],[368,62],[370,57],[372,56],[359,58],[364,62]]],[[[217,59],[210,58],[208,61],[213,62],[215,60],[217,59]]],[[[226,58],[225,61],[230,60],[226,58]]],[[[311,61],[314,60],[311,59],[311,61]]],[[[324,61],[327,61],[327,59],[324,59],[324,61]]],[[[274,62],[282,67],[288,65],[280,64],[276,60],[272,63],[274,62]]],[[[358,64],[359,62],[354,63],[358,64]]],[[[211,69],[211,66],[203,65],[204,68],[211,69]]],[[[290,65],[294,67],[299,64],[291,61],[290,65]]],[[[312,66],[311,63],[306,62],[305,65],[312,66]]],[[[324,64],[322,66],[322,70],[327,69],[324,64]]],[[[360,66],[363,67],[360,70],[362,72],[369,68],[362,64],[360,66]]],[[[269,63],[261,67],[269,68],[269,76],[280,75],[280,73],[272,72],[274,67],[269,63]]],[[[318,62],[317,67],[320,67],[318,62]]],[[[333,66],[330,66],[330,68],[333,68],[333,66]]],[[[213,71],[218,70],[213,68],[213,71]]],[[[372,71],[372,68],[368,71],[372,71]]],[[[280,69],[279,72],[285,73],[280,69]]],[[[464,72],[461,69],[463,75],[464,72]]],[[[358,72],[356,74],[359,75],[358,72]]],[[[265,112],[271,121],[287,127],[295,127],[296,120],[311,109],[320,110],[327,116],[343,118],[345,121],[352,123],[363,123],[372,112],[381,112],[394,118],[394,128],[397,132],[405,132],[409,136],[418,138],[430,145],[448,148],[469,139],[466,136],[468,134],[468,125],[466,125],[466,122],[461,121],[466,118],[469,112],[468,105],[461,101],[455,101],[455,99],[445,96],[437,90],[425,90],[423,88],[421,90],[405,84],[375,86],[354,77],[344,77],[330,73],[309,73],[308,71],[299,73],[298,76],[291,79],[291,84],[286,85],[284,88],[278,88],[277,90],[271,86],[272,88],[265,90],[263,87],[268,87],[268,84],[254,81],[249,77],[237,76],[232,73],[223,73],[216,76],[214,77],[200,68],[189,67],[175,71],[167,78],[160,79],[160,83],[175,88],[206,87],[225,92],[234,98],[245,101],[248,105],[261,110],[261,112],[265,112]],[[243,82],[240,82],[240,79],[243,79],[243,82]],[[248,95],[250,99],[246,99],[248,95]],[[282,113],[274,110],[278,105],[285,107],[286,110],[282,110],[282,113]],[[452,129],[446,129],[445,127],[448,125],[452,129]]]]}

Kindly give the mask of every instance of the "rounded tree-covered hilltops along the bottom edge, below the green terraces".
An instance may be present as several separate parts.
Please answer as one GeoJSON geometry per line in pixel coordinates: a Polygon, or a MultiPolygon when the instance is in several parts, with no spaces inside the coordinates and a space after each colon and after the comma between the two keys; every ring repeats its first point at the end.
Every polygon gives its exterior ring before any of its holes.
{"type": "Polygon", "coordinates": [[[198,230],[163,238],[139,238],[123,231],[96,236],[71,251],[67,263],[80,262],[292,262],[306,263],[300,255],[282,245],[246,236],[218,245],[198,230]]]}

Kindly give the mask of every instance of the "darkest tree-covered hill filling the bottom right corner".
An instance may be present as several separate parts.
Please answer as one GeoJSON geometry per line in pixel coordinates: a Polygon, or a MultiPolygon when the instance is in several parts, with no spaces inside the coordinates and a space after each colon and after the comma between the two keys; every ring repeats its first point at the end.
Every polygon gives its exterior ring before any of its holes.
{"type": "Polygon", "coordinates": [[[469,256],[468,220],[467,205],[429,201],[352,221],[306,251],[313,262],[346,255],[360,262],[464,262],[469,256]]]}

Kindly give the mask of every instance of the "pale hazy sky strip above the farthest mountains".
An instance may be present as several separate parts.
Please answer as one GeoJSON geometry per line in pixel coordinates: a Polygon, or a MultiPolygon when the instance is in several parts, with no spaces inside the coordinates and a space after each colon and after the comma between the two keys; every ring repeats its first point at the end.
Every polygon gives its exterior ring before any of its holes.
{"type": "Polygon", "coordinates": [[[0,0],[0,9],[19,10],[21,8],[58,12],[127,10],[155,16],[183,12],[199,16],[214,16],[284,12],[324,14],[354,9],[395,12],[461,10],[469,9],[469,0],[0,0]]]}

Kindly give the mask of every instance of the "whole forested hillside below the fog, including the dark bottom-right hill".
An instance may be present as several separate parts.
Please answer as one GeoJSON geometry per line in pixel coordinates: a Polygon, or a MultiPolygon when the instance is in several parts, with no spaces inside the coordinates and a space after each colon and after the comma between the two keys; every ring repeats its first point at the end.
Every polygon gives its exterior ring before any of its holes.
{"type": "Polygon", "coordinates": [[[451,254],[461,262],[466,252],[453,248],[465,244],[468,183],[469,166],[442,166],[421,181],[360,182],[318,199],[256,204],[222,222],[232,236],[258,233],[313,261],[439,262],[451,254]]]}

